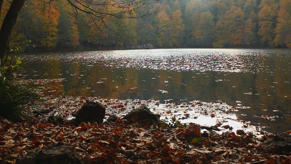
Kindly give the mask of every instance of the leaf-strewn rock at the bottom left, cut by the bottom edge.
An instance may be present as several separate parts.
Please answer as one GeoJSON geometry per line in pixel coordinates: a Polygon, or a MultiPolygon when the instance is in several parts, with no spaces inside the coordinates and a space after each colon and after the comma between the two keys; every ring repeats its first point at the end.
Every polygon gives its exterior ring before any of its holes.
{"type": "Polygon", "coordinates": [[[28,152],[17,158],[16,164],[90,164],[89,159],[83,159],[66,145],[51,145],[44,149],[28,152]]]}

